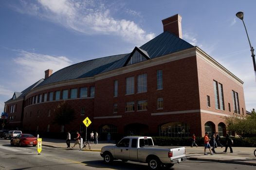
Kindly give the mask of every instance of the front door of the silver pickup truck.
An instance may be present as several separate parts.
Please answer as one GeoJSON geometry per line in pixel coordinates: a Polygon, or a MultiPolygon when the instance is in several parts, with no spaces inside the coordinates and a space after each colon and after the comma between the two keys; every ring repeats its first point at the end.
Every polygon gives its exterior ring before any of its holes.
{"type": "Polygon", "coordinates": [[[129,144],[130,144],[130,139],[129,138],[124,138],[122,139],[115,147],[115,158],[117,159],[129,159],[129,155],[130,155],[130,148],[129,148],[129,144]]]}

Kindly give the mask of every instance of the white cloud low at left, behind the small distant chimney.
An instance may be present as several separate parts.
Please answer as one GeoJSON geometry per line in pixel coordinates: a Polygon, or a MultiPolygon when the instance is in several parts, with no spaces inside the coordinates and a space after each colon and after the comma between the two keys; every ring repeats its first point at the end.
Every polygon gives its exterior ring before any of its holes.
{"type": "Polygon", "coordinates": [[[21,78],[28,87],[36,81],[44,78],[44,71],[53,69],[54,72],[72,64],[72,61],[64,56],[51,56],[35,52],[19,51],[19,57],[14,59],[18,64],[17,77],[21,78]]]}

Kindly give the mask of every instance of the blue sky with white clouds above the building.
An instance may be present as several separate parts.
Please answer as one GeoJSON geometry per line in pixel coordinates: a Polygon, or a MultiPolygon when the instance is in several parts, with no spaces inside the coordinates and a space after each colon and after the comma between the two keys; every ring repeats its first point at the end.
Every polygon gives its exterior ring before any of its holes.
{"type": "Polygon", "coordinates": [[[183,39],[200,47],[244,82],[246,110],[256,108],[251,51],[255,0],[0,0],[0,111],[15,91],[44,70],[131,52],[180,14],[183,39]],[[246,2],[246,3],[245,3],[246,2]]]}

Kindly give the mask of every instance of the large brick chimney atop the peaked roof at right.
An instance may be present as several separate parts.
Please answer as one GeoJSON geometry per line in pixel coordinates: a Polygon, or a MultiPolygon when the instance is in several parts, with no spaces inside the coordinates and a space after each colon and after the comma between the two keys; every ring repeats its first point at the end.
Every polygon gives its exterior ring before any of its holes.
{"type": "Polygon", "coordinates": [[[164,32],[168,31],[182,38],[182,17],[176,14],[162,20],[164,32]]]}

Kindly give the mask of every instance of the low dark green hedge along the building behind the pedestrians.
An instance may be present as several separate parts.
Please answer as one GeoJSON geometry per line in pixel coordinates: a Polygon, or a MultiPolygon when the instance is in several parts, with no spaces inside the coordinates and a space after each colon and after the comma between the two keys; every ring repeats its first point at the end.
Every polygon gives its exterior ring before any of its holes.
{"type": "MultiPolygon", "coordinates": [[[[154,144],[159,146],[191,146],[191,137],[165,137],[152,136],[154,144]]],[[[232,138],[235,147],[256,147],[256,137],[232,138]]],[[[203,146],[203,137],[197,137],[198,146],[203,146]]],[[[220,138],[220,143],[225,146],[225,137],[220,138]]]]}

